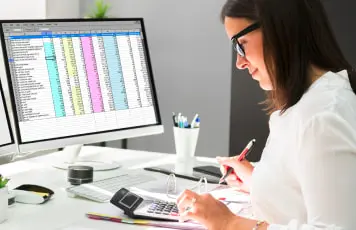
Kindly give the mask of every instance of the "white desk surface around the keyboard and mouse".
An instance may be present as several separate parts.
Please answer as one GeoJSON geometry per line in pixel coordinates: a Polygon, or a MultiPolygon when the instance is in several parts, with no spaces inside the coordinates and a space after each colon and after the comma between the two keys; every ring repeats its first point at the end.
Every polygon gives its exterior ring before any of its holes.
{"type": "MultiPolygon", "coordinates": [[[[175,155],[121,150],[103,147],[83,147],[85,158],[97,160],[115,160],[122,164],[122,168],[106,172],[94,172],[94,180],[116,175],[120,170],[143,168],[153,165],[172,164],[175,155]]],[[[85,229],[155,229],[129,224],[120,224],[101,220],[91,220],[85,216],[95,205],[93,201],[67,196],[65,188],[70,184],[67,182],[67,171],[52,167],[55,160],[60,160],[63,155],[54,153],[46,156],[18,161],[0,166],[0,173],[10,177],[9,188],[15,188],[21,184],[38,184],[52,189],[55,194],[53,198],[41,205],[20,204],[10,207],[8,219],[0,224],[1,230],[59,230],[65,227],[76,226],[85,229]]],[[[213,158],[197,158],[200,162],[214,164],[213,158]]],[[[166,175],[151,173],[165,182],[166,175]]],[[[191,183],[191,182],[189,182],[191,183]]],[[[77,228],[79,230],[79,228],[77,228]]],[[[162,229],[162,228],[159,228],[162,229]]],[[[83,229],[84,230],[84,229],[83,229]]]]}

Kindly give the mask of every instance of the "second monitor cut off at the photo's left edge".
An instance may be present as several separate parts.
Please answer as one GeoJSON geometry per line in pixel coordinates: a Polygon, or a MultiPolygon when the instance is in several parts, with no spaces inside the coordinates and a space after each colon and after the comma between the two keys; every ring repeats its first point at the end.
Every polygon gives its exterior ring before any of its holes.
{"type": "MultiPolygon", "coordinates": [[[[5,96],[0,81],[0,157],[17,152],[14,136],[11,130],[5,96]]],[[[11,156],[10,155],[10,156],[11,156]]]]}

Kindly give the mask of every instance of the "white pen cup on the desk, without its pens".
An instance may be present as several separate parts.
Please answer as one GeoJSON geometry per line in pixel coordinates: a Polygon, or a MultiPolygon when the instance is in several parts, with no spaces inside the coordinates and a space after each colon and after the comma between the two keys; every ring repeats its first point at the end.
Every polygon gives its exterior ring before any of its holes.
{"type": "Polygon", "coordinates": [[[199,128],[173,127],[176,148],[175,173],[193,174],[195,148],[198,142],[199,128]]]}

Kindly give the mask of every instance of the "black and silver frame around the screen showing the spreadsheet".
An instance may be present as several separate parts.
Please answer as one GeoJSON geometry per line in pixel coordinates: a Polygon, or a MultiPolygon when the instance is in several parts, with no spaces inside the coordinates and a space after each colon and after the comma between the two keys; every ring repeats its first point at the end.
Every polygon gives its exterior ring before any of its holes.
{"type": "MultiPolygon", "coordinates": [[[[103,134],[109,134],[109,133],[118,133],[122,132],[124,133],[130,133],[130,130],[147,130],[147,128],[152,127],[152,134],[158,134],[163,132],[163,125],[162,125],[162,119],[161,119],[161,114],[160,114],[160,109],[159,109],[159,103],[157,99],[157,91],[156,91],[156,85],[155,85],[155,80],[153,76],[153,71],[152,71],[152,64],[151,64],[151,58],[150,58],[150,52],[149,52],[149,47],[148,47],[148,42],[147,42],[147,35],[146,35],[146,29],[145,29],[145,23],[143,18],[105,18],[105,19],[93,19],[93,18],[75,18],[75,19],[16,19],[16,20],[0,20],[0,40],[1,40],[1,45],[2,45],[2,53],[4,57],[4,66],[5,66],[5,71],[6,71],[6,77],[8,80],[8,85],[9,85],[9,92],[10,92],[10,98],[11,98],[11,108],[14,113],[14,123],[15,123],[15,131],[16,131],[16,140],[17,143],[20,147],[21,151],[21,146],[32,146],[33,144],[38,145],[41,143],[50,143],[51,141],[60,141],[60,140],[66,140],[66,139],[73,139],[74,142],[71,144],[86,144],[86,143],[92,143],[91,141],[83,141],[84,137],[88,137],[90,139],[91,136],[102,136],[103,134]],[[70,136],[64,136],[64,137],[57,137],[57,138],[48,138],[48,139],[42,139],[42,140],[35,140],[35,141],[26,141],[23,142],[21,139],[21,133],[20,133],[20,127],[19,127],[19,121],[18,121],[18,114],[17,114],[17,108],[16,108],[16,103],[15,103],[15,95],[14,95],[14,90],[13,90],[13,84],[12,84],[12,78],[11,78],[11,71],[10,71],[10,65],[6,61],[8,60],[8,54],[7,54],[7,48],[5,44],[5,36],[4,36],[4,30],[3,30],[3,24],[4,23],[55,23],[55,22],[98,22],[98,21],[140,21],[141,27],[142,27],[142,35],[143,35],[143,43],[144,43],[144,49],[145,49],[145,58],[147,62],[147,69],[148,69],[148,74],[149,74],[149,83],[151,86],[152,90],[152,101],[153,101],[153,106],[155,108],[155,115],[156,115],[156,120],[157,122],[155,124],[150,124],[150,125],[142,125],[142,126],[134,126],[134,127],[129,127],[129,128],[121,128],[121,129],[112,129],[112,130],[106,130],[106,131],[99,131],[99,132],[91,132],[91,133],[85,133],[85,134],[78,134],[78,135],[70,135],[70,136]],[[78,141],[75,141],[77,138],[78,141]]],[[[142,133],[139,134],[137,132],[136,135],[126,135],[128,137],[140,137],[140,136],[145,136],[149,135],[150,132],[148,133],[142,133]]],[[[116,134],[116,136],[120,137],[121,134],[116,134]]],[[[118,139],[123,139],[126,138],[125,135],[123,135],[122,138],[118,139]]],[[[84,139],[85,140],[85,139],[84,139]]],[[[116,140],[116,138],[111,138],[108,140],[116,140]]],[[[100,141],[106,141],[103,140],[103,138],[98,138],[97,142],[100,141]]],[[[49,144],[50,145],[50,144],[49,144]]],[[[53,147],[58,148],[58,147],[63,147],[60,145],[53,145],[53,147]]],[[[32,150],[32,149],[48,149],[48,148],[25,148],[26,151],[32,150]]],[[[23,150],[25,150],[23,149],[23,150]]]]}

